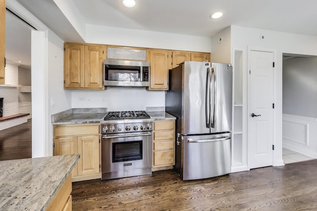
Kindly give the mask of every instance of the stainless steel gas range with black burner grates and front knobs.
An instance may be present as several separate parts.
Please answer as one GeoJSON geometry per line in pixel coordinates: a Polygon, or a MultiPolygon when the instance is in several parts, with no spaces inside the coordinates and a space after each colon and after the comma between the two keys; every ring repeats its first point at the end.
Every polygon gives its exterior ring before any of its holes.
{"type": "Polygon", "coordinates": [[[145,111],[108,112],[101,122],[102,179],[152,174],[152,130],[145,111]]]}

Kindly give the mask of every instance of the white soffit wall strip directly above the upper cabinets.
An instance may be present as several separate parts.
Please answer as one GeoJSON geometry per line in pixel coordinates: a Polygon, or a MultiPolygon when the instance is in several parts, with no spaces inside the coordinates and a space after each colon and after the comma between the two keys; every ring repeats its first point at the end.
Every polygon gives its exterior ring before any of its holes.
{"type": "Polygon", "coordinates": [[[86,42],[134,47],[211,52],[211,38],[86,25],[86,42]]]}

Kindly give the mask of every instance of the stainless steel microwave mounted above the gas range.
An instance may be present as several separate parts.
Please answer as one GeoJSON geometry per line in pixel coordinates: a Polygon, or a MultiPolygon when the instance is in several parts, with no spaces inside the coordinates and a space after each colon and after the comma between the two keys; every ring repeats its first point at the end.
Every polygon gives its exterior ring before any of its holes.
{"type": "Polygon", "coordinates": [[[128,60],[104,60],[105,86],[150,86],[150,63],[128,60]]]}

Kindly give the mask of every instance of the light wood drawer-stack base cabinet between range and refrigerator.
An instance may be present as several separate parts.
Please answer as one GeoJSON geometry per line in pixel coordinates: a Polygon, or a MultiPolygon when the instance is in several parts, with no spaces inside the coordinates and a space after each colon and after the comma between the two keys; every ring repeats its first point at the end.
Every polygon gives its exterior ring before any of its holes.
{"type": "Polygon", "coordinates": [[[153,168],[171,169],[175,165],[175,121],[154,121],[153,130],[153,168]]]}

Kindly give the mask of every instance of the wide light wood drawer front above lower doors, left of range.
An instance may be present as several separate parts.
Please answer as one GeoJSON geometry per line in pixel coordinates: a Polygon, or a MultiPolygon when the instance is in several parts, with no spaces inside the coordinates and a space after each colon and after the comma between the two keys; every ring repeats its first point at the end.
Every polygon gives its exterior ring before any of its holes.
{"type": "Polygon", "coordinates": [[[79,135],[90,135],[90,134],[99,134],[99,125],[86,125],[86,126],[55,126],[54,127],[54,136],[79,136],[79,135]]]}

